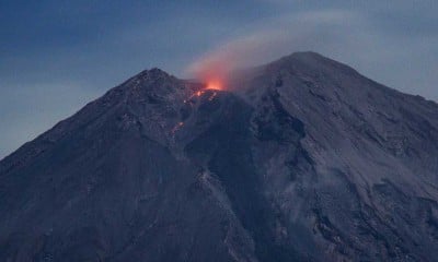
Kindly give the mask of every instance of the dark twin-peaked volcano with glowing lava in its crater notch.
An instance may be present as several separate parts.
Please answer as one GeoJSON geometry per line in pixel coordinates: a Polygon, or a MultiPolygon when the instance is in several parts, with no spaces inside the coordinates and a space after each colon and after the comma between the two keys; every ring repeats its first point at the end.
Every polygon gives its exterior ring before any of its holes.
{"type": "Polygon", "coordinates": [[[436,261],[438,105],[314,52],[146,70],[0,162],[0,261],[436,261]]]}

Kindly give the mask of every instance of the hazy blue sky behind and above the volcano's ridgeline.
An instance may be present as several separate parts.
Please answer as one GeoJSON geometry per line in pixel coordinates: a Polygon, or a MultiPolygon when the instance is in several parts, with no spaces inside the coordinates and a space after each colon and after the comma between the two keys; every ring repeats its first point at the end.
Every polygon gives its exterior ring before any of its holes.
{"type": "Polygon", "coordinates": [[[438,100],[438,1],[0,0],[0,158],[137,72],[313,50],[438,100]]]}

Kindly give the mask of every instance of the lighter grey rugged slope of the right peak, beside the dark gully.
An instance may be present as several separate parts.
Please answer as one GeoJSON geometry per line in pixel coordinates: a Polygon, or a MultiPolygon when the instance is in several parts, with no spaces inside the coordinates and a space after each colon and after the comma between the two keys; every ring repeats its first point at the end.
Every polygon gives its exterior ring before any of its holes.
{"type": "Polygon", "coordinates": [[[262,111],[276,102],[306,130],[312,171],[280,146],[265,171],[289,225],[313,227],[335,260],[434,261],[437,105],[312,52],[254,71],[240,82],[247,100],[262,111]]]}

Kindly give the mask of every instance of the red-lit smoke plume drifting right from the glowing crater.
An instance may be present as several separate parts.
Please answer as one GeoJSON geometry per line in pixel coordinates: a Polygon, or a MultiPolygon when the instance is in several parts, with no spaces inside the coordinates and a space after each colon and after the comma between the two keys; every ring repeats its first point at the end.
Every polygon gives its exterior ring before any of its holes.
{"type": "Polygon", "coordinates": [[[346,50],[348,32],[357,17],[347,11],[293,14],[254,25],[252,33],[219,45],[195,60],[186,74],[206,83],[207,88],[230,90],[230,78],[239,70],[276,60],[295,51],[322,51],[333,55],[335,47],[346,50]]]}

